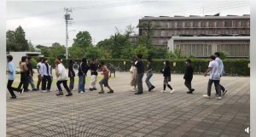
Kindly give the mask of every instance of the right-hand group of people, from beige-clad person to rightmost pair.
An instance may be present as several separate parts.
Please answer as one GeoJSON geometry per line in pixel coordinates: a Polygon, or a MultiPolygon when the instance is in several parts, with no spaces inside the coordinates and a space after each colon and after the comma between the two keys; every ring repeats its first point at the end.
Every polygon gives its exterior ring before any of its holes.
{"type": "MultiPolygon", "coordinates": [[[[226,94],[228,90],[220,84],[220,77],[224,75],[224,65],[222,60],[219,59],[219,56],[220,54],[216,52],[214,53],[214,55],[211,55],[209,57],[210,63],[207,71],[204,73],[204,76],[207,77],[207,74],[209,73],[210,77],[207,86],[207,94],[203,94],[203,96],[206,98],[210,98],[212,83],[214,83],[216,94],[218,95],[218,100],[221,100],[222,96],[226,94]]],[[[135,94],[143,94],[144,73],[146,73],[147,75],[145,83],[148,86],[148,92],[151,92],[155,88],[154,85],[149,81],[150,78],[153,76],[152,60],[150,58],[147,59],[148,65],[146,69],[147,71],[145,72],[142,58],[142,54],[137,54],[137,60],[131,62],[131,86],[133,87],[131,90],[134,92],[137,91],[137,93],[135,94]]],[[[191,63],[191,60],[186,60],[186,69],[183,76],[183,79],[185,80],[184,85],[189,88],[187,94],[193,94],[193,92],[195,91],[195,89],[191,86],[193,79],[193,67],[191,66],[191,63]]],[[[164,62],[164,68],[160,72],[163,73],[164,77],[163,90],[161,92],[165,93],[166,87],[168,87],[171,89],[170,93],[173,93],[175,89],[173,89],[172,86],[169,84],[169,82],[171,82],[171,66],[168,60],[164,62]]]]}

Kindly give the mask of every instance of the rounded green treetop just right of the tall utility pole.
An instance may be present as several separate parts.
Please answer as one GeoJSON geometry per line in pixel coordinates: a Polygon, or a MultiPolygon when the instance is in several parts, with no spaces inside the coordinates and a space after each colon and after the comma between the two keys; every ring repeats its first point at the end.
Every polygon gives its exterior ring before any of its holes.
{"type": "Polygon", "coordinates": [[[88,31],[79,31],[76,38],[73,39],[73,46],[78,46],[81,48],[92,47],[92,38],[88,31]]]}

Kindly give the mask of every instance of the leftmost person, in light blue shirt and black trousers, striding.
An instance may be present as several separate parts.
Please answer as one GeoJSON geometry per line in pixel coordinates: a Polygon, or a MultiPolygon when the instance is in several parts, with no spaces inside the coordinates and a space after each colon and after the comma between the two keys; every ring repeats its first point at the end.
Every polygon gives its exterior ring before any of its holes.
{"type": "Polygon", "coordinates": [[[15,80],[15,74],[16,74],[16,68],[15,64],[13,63],[13,56],[8,55],[7,56],[7,73],[8,73],[8,83],[7,83],[7,88],[9,90],[9,94],[11,94],[11,97],[9,99],[16,99],[16,95],[14,91],[17,91],[20,93],[20,95],[23,94],[24,88],[13,88],[12,84],[14,83],[15,80]]]}

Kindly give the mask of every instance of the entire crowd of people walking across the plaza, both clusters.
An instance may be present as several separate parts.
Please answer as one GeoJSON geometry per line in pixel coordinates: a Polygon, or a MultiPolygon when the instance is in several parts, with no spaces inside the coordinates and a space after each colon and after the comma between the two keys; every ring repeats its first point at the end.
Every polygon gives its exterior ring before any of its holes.
{"type": "MultiPolygon", "coordinates": [[[[209,57],[210,63],[208,66],[207,71],[204,73],[204,76],[207,77],[207,74],[210,73],[209,81],[208,81],[208,87],[207,87],[207,94],[204,94],[203,96],[206,98],[210,98],[211,96],[211,89],[212,89],[212,83],[214,83],[216,94],[218,95],[218,99],[222,99],[222,95],[226,94],[227,90],[219,83],[220,77],[224,75],[224,65],[222,60],[219,59],[219,53],[216,52],[214,55],[209,57]],[[223,94],[222,94],[222,92],[223,94]]],[[[147,59],[147,67],[146,71],[143,65],[143,55],[137,54],[137,59],[131,62],[131,86],[132,91],[136,92],[135,94],[143,94],[143,76],[144,73],[146,73],[146,80],[145,83],[148,86],[148,92],[153,91],[155,88],[154,85],[150,82],[150,78],[153,77],[153,61],[148,58],[147,59]]],[[[37,70],[38,70],[38,84],[37,88],[34,85],[33,82],[33,71],[32,71],[32,65],[31,65],[31,57],[23,56],[20,61],[20,84],[18,88],[13,88],[12,83],[15,80],[15,65],[12,62],[13,57],[11,55],[7,56],[8,61],[8,77],[9,81],[7,84],[7,88],[9,89],[9,93],[11,94],[10,99],[15,99],[16,95],[14,91],[20,92],[20,94],[23,94],[23,92],[29,91],[28,85],[31,84],[32,91],[38,91],[39,89],[42,90],[42,92],[50,92],[51,90],[51,84],[53,82],[53,76],[52,76],[52,66],[49,66],[48,60],[46,58],[40,58],[38,64],[37,64],[37,70]],[[42,86],[40,88],[40,84],[42,83],[42,86]],[[23,85],[23,88],[21,86],[23,85]]],[[[71,96],[72,91],[74,90],[74,77],[78,75],[79,77],[79,85],[78,85],[78,91],[80,94],[83,94],[85,90],[85,80],[87,76],[87,72],[90,70],[91,78],[90,78],[90,91],[97,90],[96,89],[96,81],[98,76],[98,71],[100,71],[103,75],[102,80],[99,82],[101,91],[99,94],[104,94],[105,91],[103,89],[103,86],[107,87],[109,89],[108,94],[113,93],[113,89],[108,85],[108,79],[109,79],[109,70],[108,67],[105,65],[104,62],[98,63],[97,59],[92,59],[90,65],[88,65],[88,61],[83,58],[81,62],[79,63],[79,72],[78,74],[75,73],[73,66],[74,61],[70,60],[68,64],[68,72],[66,71],[65,66],[62,64],[61,59],[55,60],[55,76],[56,76],[56,86],[58,94],[56,95],[63,95],[61,83],[63,84],[63,87],[67,90],[66,96],[71,96]],[[69,87],[67,86],[67,79],[70,78],[69,87]]],[[[166,60],[164,62],[164,68],[163,70],[160,70],[160,72],[163,73],[164,77],[164,83],[163,83],[163,90],[162,93],[167,92],[166,87],[170,88],[170,93],[174,92],[174,88],[169,84],[171,82],[171,66],[170,62],[166,60]]],[[[186,60],[186,69],[184,72],[183,79],[185,80],[184,85],[189,88],[188,94],[193,94],[195,91],[194,88],[191,86],[191,82],[193,79],[193,67],[191,66],[191,60],[186,60]]]]}

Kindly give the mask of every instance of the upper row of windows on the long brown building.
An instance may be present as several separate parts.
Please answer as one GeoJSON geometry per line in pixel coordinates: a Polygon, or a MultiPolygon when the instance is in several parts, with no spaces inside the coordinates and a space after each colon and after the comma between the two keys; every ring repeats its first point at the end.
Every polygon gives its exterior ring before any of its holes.
{"type": "Polygon", "coordinates": [[[250,21],[224,20],[224,21],[174,21],[174,22],[153,22],[155,26],[164,28],[178,27],[250,27],[250,21]]]}

